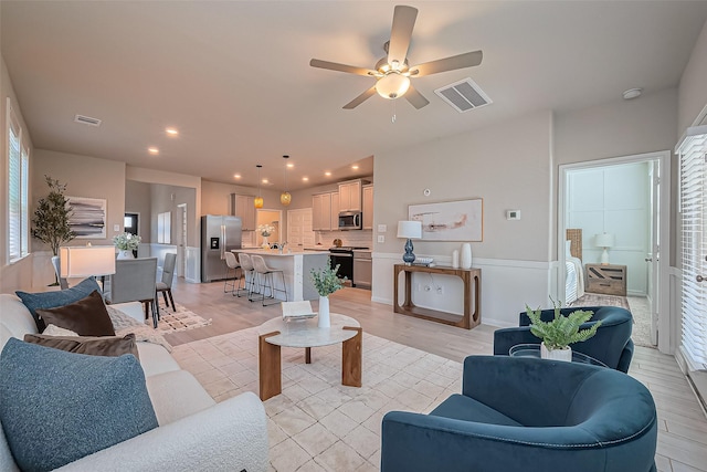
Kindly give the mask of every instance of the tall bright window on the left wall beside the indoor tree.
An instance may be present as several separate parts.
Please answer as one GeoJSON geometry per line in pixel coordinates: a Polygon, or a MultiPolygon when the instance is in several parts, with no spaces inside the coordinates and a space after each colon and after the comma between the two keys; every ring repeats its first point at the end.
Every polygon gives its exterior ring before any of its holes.
{"type": "Polygon", "coordinates": [[[8,260],[30,253],[29,170],[30,151],[23,141],[20,122],[8,98],[8,260]]]}

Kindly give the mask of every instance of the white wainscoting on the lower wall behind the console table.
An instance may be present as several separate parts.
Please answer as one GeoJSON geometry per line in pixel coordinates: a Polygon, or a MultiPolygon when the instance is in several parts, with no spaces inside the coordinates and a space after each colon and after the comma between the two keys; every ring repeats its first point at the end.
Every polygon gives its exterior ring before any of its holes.
{"type": "MultiPolygon", "coordinates": [[[[440,265],[450,265],[450,256],[432,256],[440,265]]],[[[393,265],[401,263],[399,253],[373,252],[373,283],[371,300],[393,304],[393,265]]],[[[557,263],[474,259],[473,266],[482,270],[482,323],[493,326],[518,326],[518,313],[526,303],[532,307],[549,307],[548,295],[555,293],[557,263]]],[[[429,274],[413,274],[412,300],[419,306],[462,313],[463,284],[460,279],[429,274]],[[425,287],[431,291],[426,292],[425,287]],[[442,287],[442,294],[436,289],[442,287]]],[[[400,279],[402,284],[402,275],[400,279]]],[[[401,286],[402,289],[402,286],[401,286]]],[[[400,291],[402,297],[402,290],[400,291]]],[[[392,310],[392,306],[391,306],[392,310]]]]}

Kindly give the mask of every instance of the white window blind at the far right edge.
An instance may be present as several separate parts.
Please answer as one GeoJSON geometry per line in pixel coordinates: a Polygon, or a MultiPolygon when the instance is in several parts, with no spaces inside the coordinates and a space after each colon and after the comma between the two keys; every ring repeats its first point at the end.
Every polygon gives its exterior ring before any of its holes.
{"type": "Polygon", "coordinates": [[[707,369],[707,134],[682,143],[682,346],[694,369],[707,369]],[[698,282],[705,277],[704,282],[698,282]]]}

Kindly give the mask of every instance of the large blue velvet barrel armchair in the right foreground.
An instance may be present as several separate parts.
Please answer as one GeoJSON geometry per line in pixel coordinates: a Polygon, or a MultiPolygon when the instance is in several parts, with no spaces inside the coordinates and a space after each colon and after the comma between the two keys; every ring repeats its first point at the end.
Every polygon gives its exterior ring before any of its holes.
{"type": "Polygon", "coordinates": [[[469,356],[462,395],[383,417],[381,472],[648,472],[656,440],[653,397],[625,374],[469,356]]]}

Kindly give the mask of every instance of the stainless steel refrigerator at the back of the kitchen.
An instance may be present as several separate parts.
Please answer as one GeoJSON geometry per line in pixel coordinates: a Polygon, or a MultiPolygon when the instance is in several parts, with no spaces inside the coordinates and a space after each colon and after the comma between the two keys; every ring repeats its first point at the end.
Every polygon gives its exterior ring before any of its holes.
{"type": "Polygon", "coordinates": [[[201,217],[201,282],[223,279],[225,252],[241,249],[241,219],[205,214],[201,217]]]}

